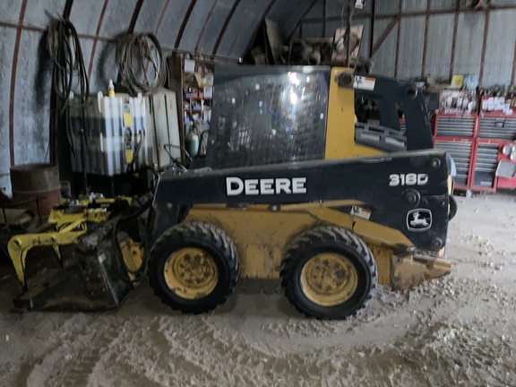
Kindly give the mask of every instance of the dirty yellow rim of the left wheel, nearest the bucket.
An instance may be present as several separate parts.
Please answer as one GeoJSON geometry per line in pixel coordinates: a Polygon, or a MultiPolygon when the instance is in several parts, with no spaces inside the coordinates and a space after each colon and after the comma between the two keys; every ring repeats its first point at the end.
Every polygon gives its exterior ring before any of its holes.
{"type": "Polygon", "coordinates": [[[186,247],[170,254],[165,262],[165,281],[168,288],[185,299],[208,296],[217,286],[219,271],[207,252],[186,247]]]}

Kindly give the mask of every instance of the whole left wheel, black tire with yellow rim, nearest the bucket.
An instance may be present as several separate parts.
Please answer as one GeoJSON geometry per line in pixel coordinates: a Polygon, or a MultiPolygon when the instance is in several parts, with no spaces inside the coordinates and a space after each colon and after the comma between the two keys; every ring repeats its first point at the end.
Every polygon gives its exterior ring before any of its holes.
{"type": "Polygon", "coordinates": [[[235,289],[235,243],[209,223],[192,221],[168,228],[150,251],[149,278],[156,296],[172,309],[210,312],[235,289]]]}

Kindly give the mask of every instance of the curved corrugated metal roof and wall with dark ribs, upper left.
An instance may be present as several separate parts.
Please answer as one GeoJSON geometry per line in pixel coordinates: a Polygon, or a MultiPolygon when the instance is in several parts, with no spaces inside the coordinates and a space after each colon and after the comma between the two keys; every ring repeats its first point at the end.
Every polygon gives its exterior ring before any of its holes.
{"type": "MultiPolygon", "coordinates": [[[[243,56],[265,17],[284,38],[318,0],[7,0],[0,2],[0,188],[9,166],[47,159],[50,76],[40,62],[52,18],[69,18],[82,43],[92,91],[116,78],[113,39],[153,31],[164,50],[223,61],[243,56]]],[[[9,189],[7,189],[9,191],[9,189]]]]}

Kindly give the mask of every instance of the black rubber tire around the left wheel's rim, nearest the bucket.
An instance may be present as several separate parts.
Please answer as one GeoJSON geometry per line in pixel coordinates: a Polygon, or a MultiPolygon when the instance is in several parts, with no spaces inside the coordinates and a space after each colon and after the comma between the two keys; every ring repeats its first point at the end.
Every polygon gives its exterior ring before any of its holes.
{"type": "Polygon", "coordinates": [[[161,301],[185,314],[210,312],[224,304],[238,280],[238,255],[233,240],[220,228],[192,221],[168,228],[152,246],[149,262],[150,286],[161,301]],[[211,255],[217,271],[215,288],[205,297],[187,299],[168,287],[165,267],[171,254],[184,248],[200,249],[211,255]]]}

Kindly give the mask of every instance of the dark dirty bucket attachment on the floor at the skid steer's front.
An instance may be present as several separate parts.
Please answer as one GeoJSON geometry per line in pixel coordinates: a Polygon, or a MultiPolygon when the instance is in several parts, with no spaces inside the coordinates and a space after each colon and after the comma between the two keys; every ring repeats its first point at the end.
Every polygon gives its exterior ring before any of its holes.
{"type": "MultiPolygon", "coordinates": [[[[109,233],[114,222],[99,225],[74,245],[62,247],[63,267],[39,271],[34,286],[13,300],[23,310],[114,309],[133,288],[132,280],[114,252],[109,233]]],[[[127,234],[117,233],[125,265],[142,263],[142,250],[127,234]]]]}

